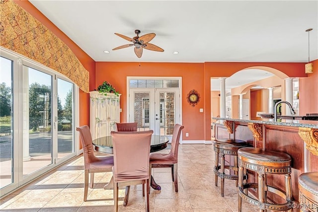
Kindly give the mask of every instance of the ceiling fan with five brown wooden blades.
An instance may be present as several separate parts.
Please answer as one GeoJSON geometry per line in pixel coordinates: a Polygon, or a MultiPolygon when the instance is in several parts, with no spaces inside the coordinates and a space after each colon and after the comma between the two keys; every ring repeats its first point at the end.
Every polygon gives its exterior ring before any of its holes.
{"type": "Polygon", "coordinates": [[[114,48],[113,50],[117,50],[117,49],[122,49],[122,48],[126,48],[126,47],[130,47],[130,46],[135,46],[135,54],[137,55],[137,57],[141,58],[142,54],[143,54],[143,48],[148,49],[148,50],[152,50],[152,51],[158,51],[158,52],[163,52],[164,50],[161,49],[159,46],[156,46],[154,44],[148,43],[149,41],[151,41],[156,34],[155,33],[149,33],[149,34],[145,34],[139,37],[140,34],[140,30],[136,29],[135,33],[137,36],[130,38],[127,37],[125,35],[121,35],[118,33],[115,33],[116,35],[118,35],[121,38],[124,38],[125,40],[131,41],[133,42],[132,44],[125,44],[122,46],[118,46],[116,48],[114,48]]]}

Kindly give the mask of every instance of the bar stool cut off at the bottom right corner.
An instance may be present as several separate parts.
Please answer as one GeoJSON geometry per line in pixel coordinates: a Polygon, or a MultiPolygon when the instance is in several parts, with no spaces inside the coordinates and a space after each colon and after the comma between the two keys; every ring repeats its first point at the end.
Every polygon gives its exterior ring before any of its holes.
{"type": "Polygon", "coordinates": [[[303,212],[318,211],[318,172],[303,173],[298,178],[299,203],[303,212]]]}

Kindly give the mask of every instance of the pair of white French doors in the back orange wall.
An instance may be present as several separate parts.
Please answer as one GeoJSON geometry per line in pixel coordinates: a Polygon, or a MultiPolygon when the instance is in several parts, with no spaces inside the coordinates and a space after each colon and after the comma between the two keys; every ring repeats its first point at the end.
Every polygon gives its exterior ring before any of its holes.
{"type": "Polygon", "coordinates": [[[181,121],[179,88],[130,88],[128,102],[128,120],[137,122],[138,131],[152,129],[171,138],[181,121]]]}

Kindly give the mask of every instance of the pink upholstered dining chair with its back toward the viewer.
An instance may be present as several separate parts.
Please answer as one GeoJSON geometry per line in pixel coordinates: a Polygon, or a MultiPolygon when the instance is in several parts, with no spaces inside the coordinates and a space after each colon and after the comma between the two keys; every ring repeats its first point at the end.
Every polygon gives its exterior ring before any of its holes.
{"type": "MultiPolygon", "coordinates": [[[[114,211],[118,211],[118,188],[142,184],[146,186],[146,211],[149,212],[150,143],[153,130],[111,132],[114,154],[114,211]]],[[[144,190],[143,190],[144,191],[144,190]]],[[[128,194],[126,194],[128,201],[128,194]]],[[[145,192],[143,192],[145,196],[145,192]]]]}

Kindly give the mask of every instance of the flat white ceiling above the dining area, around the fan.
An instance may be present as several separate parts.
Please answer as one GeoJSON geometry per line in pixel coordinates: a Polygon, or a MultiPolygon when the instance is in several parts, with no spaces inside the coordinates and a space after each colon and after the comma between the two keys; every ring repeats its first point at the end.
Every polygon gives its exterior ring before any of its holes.
{"type": "MultiPolygon", "coordinates": [[[[318,0],[29,1],[95,61],[308,62],[308,28],[310,60],[318,59],[318,0]],[[131,43],[115,32],[134,37],[135,29],[156,33],[150,43],[164,52],[112,51],[131,43]]],[[[235,79],[261,79],[242,73],[235,79]]]]}

